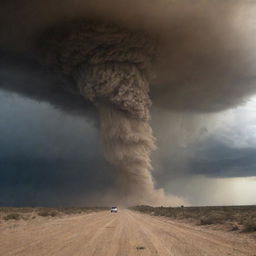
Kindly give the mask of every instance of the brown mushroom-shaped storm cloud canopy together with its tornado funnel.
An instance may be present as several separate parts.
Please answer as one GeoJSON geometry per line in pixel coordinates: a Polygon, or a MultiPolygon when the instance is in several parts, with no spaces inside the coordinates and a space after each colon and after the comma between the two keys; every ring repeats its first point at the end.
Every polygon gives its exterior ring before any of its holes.
{"type": "Polygon", "coordinates": [[[170,130],[166,151],[175,155],[179,144],[215,129],[215,113],[254,95],[255,7],[241,0],[4,2],[3,81],[22,66],[49,82],[3,82],[1,88],[94,120],[115,169],[119,201],[170,202],[151,174],[151,105],[162,122],[154,127],[170,130]],[[197,114],[204,116],[200,123],[197,114]],[[183,117],[186,128],[180,129],[183,117]]]}

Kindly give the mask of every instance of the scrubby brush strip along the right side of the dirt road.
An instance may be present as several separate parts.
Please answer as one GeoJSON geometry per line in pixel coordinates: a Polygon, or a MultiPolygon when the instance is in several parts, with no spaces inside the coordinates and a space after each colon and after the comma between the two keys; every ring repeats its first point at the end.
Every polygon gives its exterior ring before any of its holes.
{"type": "Polygon", "coordinates": [[[211,225],[230,231],[256,232],[256,206],[151,207],[135,206],[135,211],[155,216],[211,225]]]}

